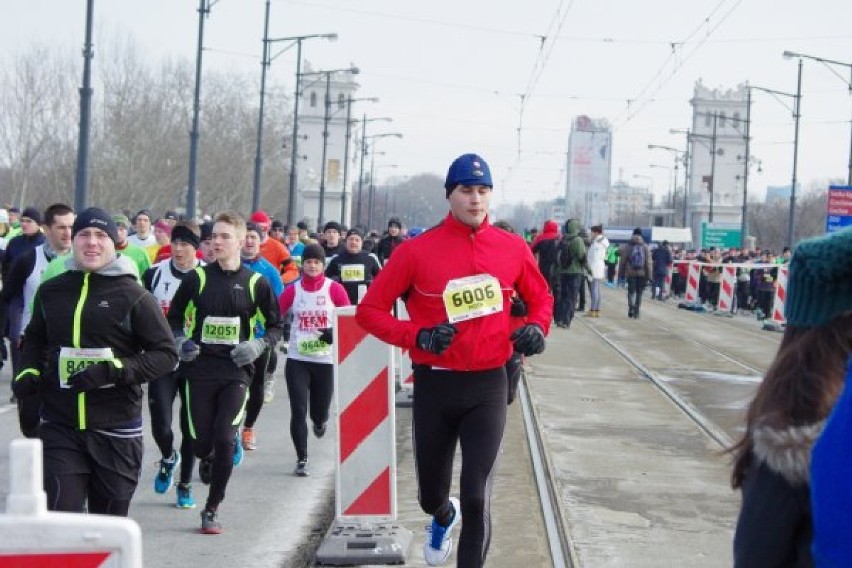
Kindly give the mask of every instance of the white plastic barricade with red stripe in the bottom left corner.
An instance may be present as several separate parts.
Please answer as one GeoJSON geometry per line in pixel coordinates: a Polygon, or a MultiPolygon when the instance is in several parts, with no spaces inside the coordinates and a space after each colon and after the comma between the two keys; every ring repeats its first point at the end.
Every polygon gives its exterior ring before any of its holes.
{"type": "Polygon", "coordinates": [[[142,568],[142,531],[135,521],[47,511],[41,440],[12,440],[9,473],[0,568],[142,568]]]}

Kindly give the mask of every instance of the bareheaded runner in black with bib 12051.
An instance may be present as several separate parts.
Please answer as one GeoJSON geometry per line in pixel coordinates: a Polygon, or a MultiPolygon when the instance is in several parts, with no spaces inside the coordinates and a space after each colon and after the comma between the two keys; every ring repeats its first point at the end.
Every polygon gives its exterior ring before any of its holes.
{"type": "Polygon", "coordinates": [[[190,434],[199,475],[210,484],[201,531],[219,534],[219,504],[234,465],[242,460],[237,439],[245,411],[252,363],[281,339],[283,323],[265,278],[242,265],[246,223],[220,213],[213,225],[216,262],[187,274],[172,298],[168,320],[187,379],[190,434]],[[255,337],[258,323],[266,335],[255,337]]]}

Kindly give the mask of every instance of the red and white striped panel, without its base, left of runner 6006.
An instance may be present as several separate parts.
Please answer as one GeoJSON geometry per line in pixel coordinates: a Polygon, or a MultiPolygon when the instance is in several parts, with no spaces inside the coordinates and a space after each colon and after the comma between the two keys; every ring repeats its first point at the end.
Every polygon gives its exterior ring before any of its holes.
{"type": "Polygon", "coordinates": [[[393,351],[355,321],[334,314],[337,395],[337,519],[396,518],[393,351]]]}

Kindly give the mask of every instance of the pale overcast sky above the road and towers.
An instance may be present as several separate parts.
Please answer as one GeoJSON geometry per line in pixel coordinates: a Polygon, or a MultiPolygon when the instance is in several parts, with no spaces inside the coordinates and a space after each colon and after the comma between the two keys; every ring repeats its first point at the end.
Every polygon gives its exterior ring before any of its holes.
{"type": "MultiPolygon", "coordinates": [[[[198,4],[96,0],[95,23],[100,33],[135,38],[152,62],[194,62],[198,4]]],[[[205,68],[259,77],[264,7],[265,0],[218,0],[205,28],[205,68]]],[[[85,8],[85,0],[0,0],[0,55],[33,43],[79,52],[85,8]]],[[[783,59],[784,50],[852,63],[850,0],[273,0],[271,11],[272,37],[339,34],[336,43],[306,41],[303,56],[317,69],[361,69],[357,96],[381,102],[358,103],[356,112],[393,118],[372,123],[373,133],[404,135],[381,142],[381,161],[398,166],[385,175],[443,176],[457,155],[477,152],[491,166],[498,202],[564,193],[568,133],[580,114],[613,123],[614,180],[644,185],[634,176],[651,175],[662,194],[670,173],[649,165],[670,166],[672,155],[647,145],[684,145],[669,131],[689,126],[698,79],[794,93],[796,62],[783,59]]],[[[270,69],[289,87],[294,51],[270,69]]],[[[798,176],[805,186],[846,178],[850,71],[835,70],[840,77],[805,62],[798,176]]],[[[750,184],[756,193],[790,183],[793,120],[784,105],[791,103],[755,93],[752,153],[763,164],[750,184]]],[[[209,134],[201,132],[202,144],[209,134]]]]}

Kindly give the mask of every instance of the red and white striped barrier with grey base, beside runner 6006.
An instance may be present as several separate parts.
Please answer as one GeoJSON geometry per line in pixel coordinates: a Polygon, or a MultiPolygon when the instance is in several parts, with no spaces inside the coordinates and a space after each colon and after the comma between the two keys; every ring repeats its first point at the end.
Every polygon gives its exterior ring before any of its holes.
{"type": "Polygon", "coordinates": [[[320,564],[402,564],[411,532],[396,521],[396,413],[393,350],[334,313],[337,401],[335,522],[317,551],[320,564]]]}

